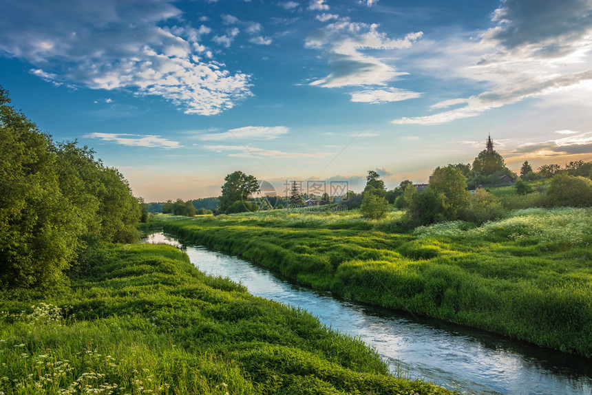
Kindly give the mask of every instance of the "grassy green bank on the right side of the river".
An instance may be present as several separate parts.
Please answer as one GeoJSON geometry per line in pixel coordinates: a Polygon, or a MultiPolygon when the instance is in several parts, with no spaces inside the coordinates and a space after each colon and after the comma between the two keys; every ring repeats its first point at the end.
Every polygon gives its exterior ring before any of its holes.
{"type": "Polygon", "coordinates": [[[390,231],[355,213],[167,222],[165,231],[346,299],[592,357],[592,211],[515,211],[479,228],[390,231]]]}

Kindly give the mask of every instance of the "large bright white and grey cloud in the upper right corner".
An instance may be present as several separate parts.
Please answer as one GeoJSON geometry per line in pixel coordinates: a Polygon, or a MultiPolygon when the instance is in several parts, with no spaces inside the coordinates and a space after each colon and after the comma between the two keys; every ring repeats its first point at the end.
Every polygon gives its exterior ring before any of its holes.
{"type": "MultiPolygon", "coordinates": [[[[439,114],[400,118],[396,124],[438,125],[537,98],[562,103],[589,97],[592,91],[591,1],[506,0],[494,12],[497,25],[480,34],[433,41],[418,51],[417,67],[443,78],[485,83],[487,90],[469,98],[432,105],[439,114]]],[[[589,100],[580,105],[591,106],[589,100]]]]}

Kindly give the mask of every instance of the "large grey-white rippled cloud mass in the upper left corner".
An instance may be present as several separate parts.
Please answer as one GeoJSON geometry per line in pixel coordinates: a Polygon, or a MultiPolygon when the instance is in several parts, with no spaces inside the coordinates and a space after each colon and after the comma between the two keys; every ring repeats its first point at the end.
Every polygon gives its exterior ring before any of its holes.
{"type": "Polygon", "coordinates": [[[6,0],[0,52],[36,67],[54,83],[129,89],[160,96],[187,114],[212,115],[251,96],[248,74],[232,74],[200,43],[209,28],[192,28],[172,3],[6,0]]]}

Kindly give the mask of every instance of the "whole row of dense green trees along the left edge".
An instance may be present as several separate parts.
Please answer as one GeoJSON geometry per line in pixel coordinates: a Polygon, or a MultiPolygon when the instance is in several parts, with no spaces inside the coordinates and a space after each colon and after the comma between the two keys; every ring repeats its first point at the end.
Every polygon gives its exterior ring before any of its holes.
{"type": "Polygon", "coordinates": [[[123,175],[88,147],[54,142],[3,87],[0,178],[0,285],[59,284],[89,246],[138,239],[142,206],[123,175]]]}

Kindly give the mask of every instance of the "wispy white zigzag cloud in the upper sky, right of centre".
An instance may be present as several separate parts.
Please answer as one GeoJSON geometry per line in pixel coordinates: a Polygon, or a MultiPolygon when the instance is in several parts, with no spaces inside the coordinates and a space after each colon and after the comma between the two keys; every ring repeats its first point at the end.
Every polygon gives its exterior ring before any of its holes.
{"type": "Polygon", "coordinates": [[[405,75],[381,58],[364,54],[364,50],[393,50],[408,48],[423,33],[416,32],[403,39],[389,39],[378,32],[379,25],[353,23],[342,18],[317,30],[306,39],[306,47],[322,50],[328,56],[331,73],[310,85],[320,87],[344,87],[360,85],[385,85],[397,76],[405,75]]]}

